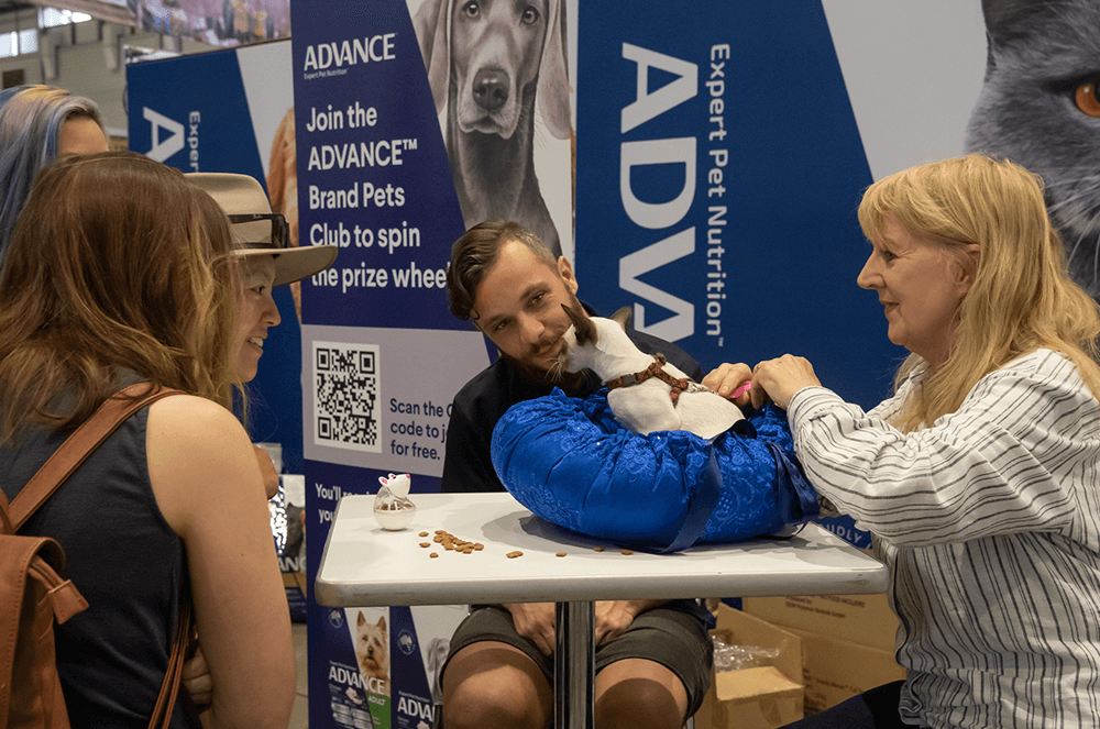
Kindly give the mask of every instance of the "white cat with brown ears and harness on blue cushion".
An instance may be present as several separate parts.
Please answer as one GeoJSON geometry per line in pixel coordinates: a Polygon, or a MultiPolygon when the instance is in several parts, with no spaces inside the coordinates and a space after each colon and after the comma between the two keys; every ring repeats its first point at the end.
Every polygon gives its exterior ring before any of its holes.
{"type": "Polygon", "coordinates": [[[696,384],[664,357],[639,350],[622,322],[562,308],[573,325],[564,334],[565,349],[556,366],[596,373],[610,388],[607,405],[624,428],[642,435],[688,430],[714,438],[745,418],[733,401],[696,384]]]}

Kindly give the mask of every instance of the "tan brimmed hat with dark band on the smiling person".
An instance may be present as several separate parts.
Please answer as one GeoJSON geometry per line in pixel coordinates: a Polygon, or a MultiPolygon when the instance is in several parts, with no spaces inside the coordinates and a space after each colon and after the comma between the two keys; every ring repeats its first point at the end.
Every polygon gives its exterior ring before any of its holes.
{"type": "Polygon", "coordinates": [[[263,186],[248,175],[188,173],[187,179],[206,190],[229,216],[234,255],[275,258],[274,286],[289,284],[324,270],[337,259],[334,245],[290,245],[290,230],[283,216],[272,212],[263,186]]]}

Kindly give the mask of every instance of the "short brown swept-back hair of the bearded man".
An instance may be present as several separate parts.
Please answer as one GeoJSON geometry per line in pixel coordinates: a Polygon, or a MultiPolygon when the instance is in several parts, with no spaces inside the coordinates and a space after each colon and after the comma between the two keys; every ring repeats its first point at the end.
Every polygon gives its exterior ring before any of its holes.
{"type": "Polygon", "coordinates": [[[451,313],[463,321],[470,319],[477,286],[509,241],[522,243],[551,268],[557,266],[558,261],[550,248],[519,223],[505,220],[477,223],[451,246],[451,265],[447,269],[447,299],[451,313]]]}

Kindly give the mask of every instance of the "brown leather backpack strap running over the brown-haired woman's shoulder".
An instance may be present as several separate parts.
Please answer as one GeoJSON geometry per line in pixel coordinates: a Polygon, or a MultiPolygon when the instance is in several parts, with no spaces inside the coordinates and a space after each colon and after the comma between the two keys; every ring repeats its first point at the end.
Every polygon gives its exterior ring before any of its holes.
{"type": "MultiPolygon", "coordinates": [[[[91,452],[99,448],[100,443],[107,440],[107,437],[113,433],[127,418],[146,405],[169,395],[184,395],[184,393],[156,388],[148,383],[138,383],[117,393],[99,406],[99,409],[62,443],[62,446],[38,470],[38,473],[34,474],[26,483],[19,496],[12,500],[8,509],[9,513],[0,516],[4,529],[7,530],[9,526],[11,528],[8,533],[14,533],[22,527],[23,522],[47,498],[53,496],[54,491],[65,483],[65,479],[80,467],[80,464],[88,459],[91,452]],[[141,397],[143,394],[145,397],[141,397]]],[[[3,509],[0,509],[0,512],[2,511],[3,509]]]]}

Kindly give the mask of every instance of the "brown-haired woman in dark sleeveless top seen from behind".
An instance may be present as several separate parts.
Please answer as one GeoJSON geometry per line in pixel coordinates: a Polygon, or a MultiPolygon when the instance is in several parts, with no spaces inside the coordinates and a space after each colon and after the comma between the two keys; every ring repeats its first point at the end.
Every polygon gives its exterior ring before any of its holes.
{"type": "MultiPolygon", "coordinates": [[[[20,533],[53,537],[89,607],[56,628],[74,727],[145,727],[189,592],[212,684],[209,726],[286,727],[290,621],[260,467],[228,409],[229,223],[209,195],[138,154],[38,176],[0,275],[0,487],[9,500],[96,408],[138,411],[20,533]]],[[[180,694],[173,727],[199,727],[180,694]]]]}

